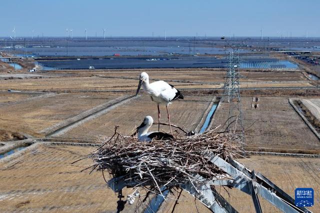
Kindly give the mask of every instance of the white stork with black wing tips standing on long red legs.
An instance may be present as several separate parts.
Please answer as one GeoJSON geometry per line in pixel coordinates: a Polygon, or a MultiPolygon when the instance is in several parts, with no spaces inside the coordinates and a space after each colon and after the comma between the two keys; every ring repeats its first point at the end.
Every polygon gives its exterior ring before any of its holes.
{"type": "Polygon", "coordinates": [[[152,83],[149,83],[149,75],[146,72],[141,72],[139,77],[140,77],[139,84],[138,84],[138,88],[136,90],[135,96],[138,94],[140,87],[142,86],[144,91],[146,91],[150,95],[151,100],[157,104],[157,107],[158,107],[158,131],[160,129],[159,104],[160,103],[165,104],[166,112],[168,114],[170,132],[172,134],[168,105],[171,103],[172,100],[183,99],[183,95],[181,94],[181,92],[179,90],[174,88],[173,85],[168,84],[167,82],[165,82],[163,80],[158,80],[158,81],[154,81],[152,83]]]}

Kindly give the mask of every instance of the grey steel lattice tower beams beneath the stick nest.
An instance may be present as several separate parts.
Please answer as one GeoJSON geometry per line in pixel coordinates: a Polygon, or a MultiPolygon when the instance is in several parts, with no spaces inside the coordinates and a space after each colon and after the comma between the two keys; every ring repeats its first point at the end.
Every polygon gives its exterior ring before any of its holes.
{"type": "MultiPolygon", "coordinates": [[[[249,170],[236,160],[229,159],[229,162],[226,162],[216,155],[210,156],[209,159],[225,171],[230,179],[207,180],[203,176],[194,174],[192,182],[187,182],[179,187],[201,201],[212,212],[238,212],[219,195],[214,185],[237,188],[249,194],[252,198],[255,211],[258,213],[262,212],[258,195],[286,213],[311,212],[305,207],[295,206],[294,199],[281,188],[261,173],[255,173],[254,170],[249,170]]],[[[125,181],[124,179],[123,176],[112,178],[108,181],[108,185],[115,192],[121,192],[121,189],[125,186],[134,187],[137,185],[134,181],[125,181]]],[[[150,183],[146,182],[144,185],[150,185],[150,183]]]]}

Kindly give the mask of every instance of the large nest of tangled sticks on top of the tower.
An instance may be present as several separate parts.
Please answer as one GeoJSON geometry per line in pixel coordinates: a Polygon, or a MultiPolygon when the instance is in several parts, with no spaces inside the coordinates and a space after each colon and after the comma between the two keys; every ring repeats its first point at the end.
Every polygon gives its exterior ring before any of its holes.
{"type": "Polygon", "coordinates": [[[89,154],[93,169],[107,170],[113,177],[124,175],[136,186],[161,193],[160,188],[179,186],[194,174],[208,180],[225,177],[225,172],[209,161],[209,155],[228,160],[239,152],[239,138],[230,132],[214,129],[192,136],[175,135],[170,140],[139,142],[117,132],[102,140],[102,145],[89,154]]]}

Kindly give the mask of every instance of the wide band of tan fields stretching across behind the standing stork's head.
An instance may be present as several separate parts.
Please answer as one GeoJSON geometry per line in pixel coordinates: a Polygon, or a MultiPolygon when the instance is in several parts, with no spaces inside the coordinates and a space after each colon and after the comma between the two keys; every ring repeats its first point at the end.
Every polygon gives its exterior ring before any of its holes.
{"type": "MultiPolygon", "coordinates": [[[[57,70],[43,72],[42,78],[13,78],[0,80],[0,90],[69,91],[69,90],[119,90],[134,91],[141,70],[74,71],[57,70]],[[55,77],[54,77],[55,75],[55,77]]],[[[145,70],[143,70],[145,71],[145,70]]],[[[177,88],[219,88],[223,86],[225,71],[221,70],[148,70],[150,82],[166,80],[177,88]]],[[[262,72],[241,71],[240,86],[292,87],[312,86],[300,71],[262,72]]]]}

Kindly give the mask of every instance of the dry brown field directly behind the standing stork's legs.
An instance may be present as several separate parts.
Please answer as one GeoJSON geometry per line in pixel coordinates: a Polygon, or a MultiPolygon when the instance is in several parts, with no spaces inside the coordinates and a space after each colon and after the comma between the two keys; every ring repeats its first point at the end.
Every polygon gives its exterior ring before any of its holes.
{"type": "MultiPolygon", "coordinates": [[[[171,123],[193,130],[211,100],[211,96],[185,96],[183,100],[174,101],[168,107],[171,123]]],[[[160,105],[160,112],[160,121],[168,123],[164,105],[160,105]]],[[[141,124],[146,115],[151,115],[154,122],[157,122],[156,104],[143,93],[140,97],[76,126],[64,134],[58,135],[58,137],[97,138],[99,135],[111,136],[115,125],[119,125],[118,131],[120,133],[130,135],[134,132],[135,127],[141,124]]],[[[160,128],[169,131],[168,126],[160,126],[160,128]]],[[[152,130],[157,130],[157,125],[153,125],[150,128],[150,131],[152,130]]]]}

